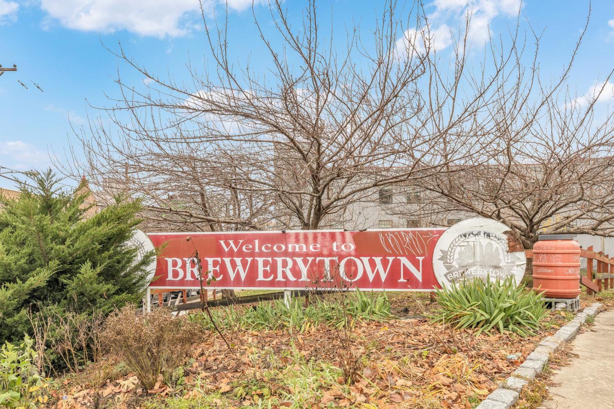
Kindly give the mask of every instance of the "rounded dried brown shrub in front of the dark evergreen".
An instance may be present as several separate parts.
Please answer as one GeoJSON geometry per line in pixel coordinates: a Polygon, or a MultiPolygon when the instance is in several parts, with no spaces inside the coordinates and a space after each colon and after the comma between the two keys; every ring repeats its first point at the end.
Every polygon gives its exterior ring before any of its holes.
{"type": "Polygon", "coordinates": [[[127,305],[107,318],[104,345],[120,357],[146,389],[153,389],[158,375],[168,381],[188,354],[199,332],[183,317],[158,308],[143,315],[127,305]]]}

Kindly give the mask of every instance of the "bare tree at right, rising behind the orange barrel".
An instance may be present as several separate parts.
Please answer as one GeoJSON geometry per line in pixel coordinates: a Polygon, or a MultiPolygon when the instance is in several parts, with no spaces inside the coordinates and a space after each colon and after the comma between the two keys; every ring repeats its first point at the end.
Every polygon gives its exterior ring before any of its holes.
{"type": "Polygon", "coordinates": [[[614,71],[586,96],[569,92],[583,35],[561,77],[545,84],[532,74],[538,86],[525,88],[520,98],[505,92],[493,100],[497,154],[478,158],[475,166],[456,166],[454,173],[432,174],[421,185],[431,193],[430,212],[499,220],[526,249],[543,233],[614,235],[614,118],[597,105],[600,97],[612,96],[614,71]],[[508,115],[509,101],[519,99],[531,102],[521,115],[508,115]]]}

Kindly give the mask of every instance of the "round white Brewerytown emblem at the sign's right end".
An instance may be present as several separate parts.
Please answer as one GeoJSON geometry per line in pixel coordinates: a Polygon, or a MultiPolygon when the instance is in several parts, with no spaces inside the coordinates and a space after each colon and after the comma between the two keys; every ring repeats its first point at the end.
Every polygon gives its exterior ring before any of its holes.
{"type": "Polygon", "coordinates": [[[433,270],[442,287],[463,279],[505,279],[516,284],[527,259],[518,237],[506,225],[483,217],[448,228],[435,244],[433,270]]]}

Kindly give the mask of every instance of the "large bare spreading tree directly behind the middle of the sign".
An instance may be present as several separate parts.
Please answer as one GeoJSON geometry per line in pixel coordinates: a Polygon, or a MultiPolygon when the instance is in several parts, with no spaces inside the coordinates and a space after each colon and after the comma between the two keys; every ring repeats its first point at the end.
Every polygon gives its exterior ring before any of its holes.
{"type": "Polygon", "coordinates": [[[202,73],[188,66],[189,85],[120,49],[147,89],[118,78],[122,97],[103,109],[112,126],[103,115],[81,130],[66,173],[143,198],[149,220],[173,228],[334,227],[374,190],[488,163],[505,151],[505,126],[530,112],[523,97],[537,64],[524,56],[518,20],[470,58],[471,15],[442,56],[418,1],[387,2],[369,45],[354,26],[341,50],[315,1],[298,28],[281,1],[269,11],[272,37],[253,13],[266,75],[250,58],[235,62],[227,18],[203,15],[209,49],[202,73]]]}

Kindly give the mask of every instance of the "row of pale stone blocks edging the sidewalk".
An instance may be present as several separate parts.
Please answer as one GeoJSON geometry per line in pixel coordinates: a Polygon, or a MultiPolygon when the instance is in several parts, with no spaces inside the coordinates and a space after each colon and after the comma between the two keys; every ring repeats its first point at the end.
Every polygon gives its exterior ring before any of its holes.
{"type": "Polygon", "coordinates": [[[572,340],[586,319],[599,314],[601,308],[602,304],[593,303],[577,314],[572,321],[559,328],[553,336],[544,338],[527,356],[527,359],[511,373],[510,377],[503,381],[499,388],[492,391],[476,409],[510,409],[513,407],[518,402],[523,387],[529,383],[529,380],[535,379],[535,376],[548,365],[550,353],[559,348],[562,342],[572,340]]]}

